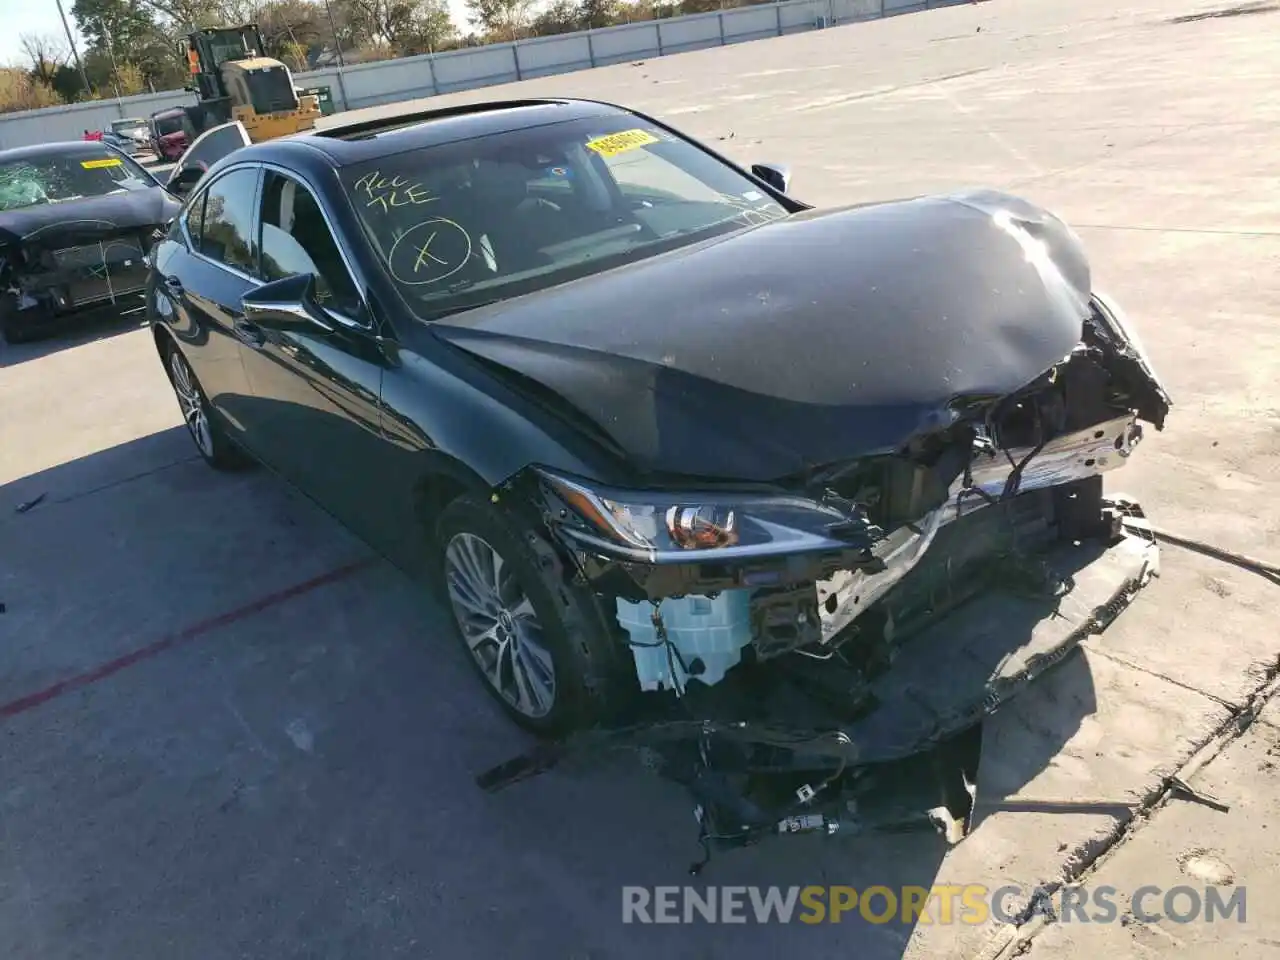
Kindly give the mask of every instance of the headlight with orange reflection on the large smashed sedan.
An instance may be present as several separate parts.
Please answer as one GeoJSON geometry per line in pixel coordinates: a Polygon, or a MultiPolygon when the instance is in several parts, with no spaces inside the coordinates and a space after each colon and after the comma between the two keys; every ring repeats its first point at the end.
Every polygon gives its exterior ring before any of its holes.
{"type": "Polygon", "coordinates": [[[559,530],[593,549],[652,563],[809,553],[869,545],[876,529],[847,507],[742,492],[620,490],[539,470],[559,530]],[[864,543],[865,541],[865,543],[864,543]]]}

